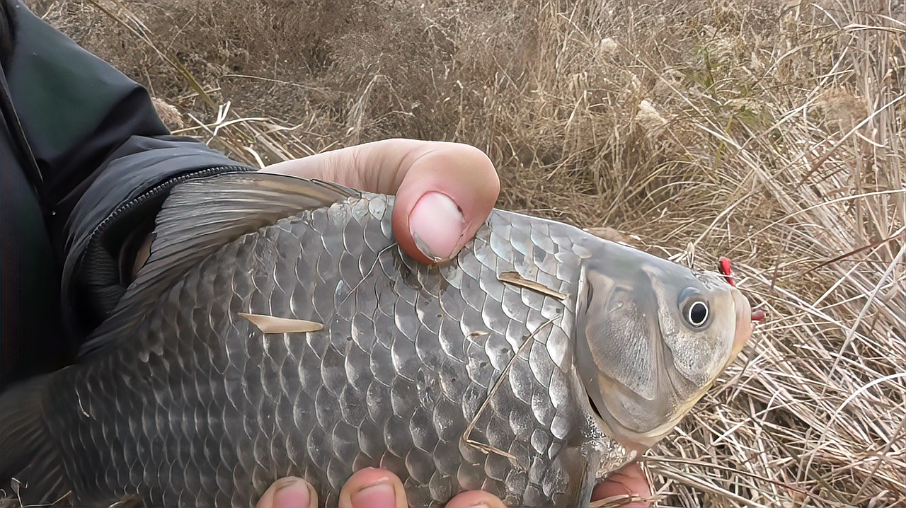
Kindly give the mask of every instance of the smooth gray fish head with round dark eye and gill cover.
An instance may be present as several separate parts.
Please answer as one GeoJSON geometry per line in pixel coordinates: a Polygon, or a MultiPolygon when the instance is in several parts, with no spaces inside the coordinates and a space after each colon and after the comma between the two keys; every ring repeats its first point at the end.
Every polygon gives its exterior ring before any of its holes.
{"type": "Polygon", "coordinates": [[[585,260],[575,365],[604,431],[640,453],[670,433],[752,334],[745,296],[697,273],[608,243],[585,260]]]}

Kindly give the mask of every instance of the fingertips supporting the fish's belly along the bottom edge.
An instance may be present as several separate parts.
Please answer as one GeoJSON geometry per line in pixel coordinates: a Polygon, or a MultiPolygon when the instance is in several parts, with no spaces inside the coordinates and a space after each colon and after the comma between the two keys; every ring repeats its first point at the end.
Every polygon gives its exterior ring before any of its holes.
{"type": "MultiPolygon", "coordinates": [[[[594,488],[592,501],[611,498],[619,501],[622,496],[648,497],[651,489],[641,466],[631,464],[594,488]]],[[[311,484],[301,478],[290,476],[276,481],[258,501],[257,508],[315,508],[318,494],[311,484]]],[[[406,490],[396,474],[372,467],[352,474],[340,491],[340,508],[406,508],[409,502],[406,490]]],[[[468,491],[458,494],[447,503],[447,508],[468,506],[503,507],[505,504],[495,495],[483,491],[468,491]]],[[[649,503],[634,502],[622,504],[631,508],[646,508],[649,503]]]]}

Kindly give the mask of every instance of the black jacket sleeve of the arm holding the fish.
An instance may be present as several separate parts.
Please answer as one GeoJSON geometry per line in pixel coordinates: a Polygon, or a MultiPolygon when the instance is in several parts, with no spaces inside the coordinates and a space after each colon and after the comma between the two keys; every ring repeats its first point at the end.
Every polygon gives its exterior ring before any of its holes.
{"type": "Polygon", "coordinates": [[[5,74],[51,210],[45,225],[63,263],[63,318],[81,342],[125,291],[124,245],[149,232],[169,188],[251,168],[170,137],[139,84],[13,5],[5,74]]]}

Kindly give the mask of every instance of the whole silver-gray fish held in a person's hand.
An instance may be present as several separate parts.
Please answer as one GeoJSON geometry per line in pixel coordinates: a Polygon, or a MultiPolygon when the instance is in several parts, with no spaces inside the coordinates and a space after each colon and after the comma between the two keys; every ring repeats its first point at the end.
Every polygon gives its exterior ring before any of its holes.
{"type": "Polygon", "coordinates": [[[374,466],[415,506],[584,504],[751,334],[728,276],[543,218],[495,209],[419,264],[393,204],[264,172],[178,184],[79,360],[0,396],[0,481],[23,503],[226,506],[296,475],[333,505],[374,466]]]}

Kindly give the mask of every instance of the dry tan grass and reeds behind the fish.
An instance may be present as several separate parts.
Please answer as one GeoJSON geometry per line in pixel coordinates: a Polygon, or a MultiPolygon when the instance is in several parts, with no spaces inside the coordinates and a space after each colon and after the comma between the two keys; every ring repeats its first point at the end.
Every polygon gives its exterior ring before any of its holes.
{"type": "Polygon", "coordinates": [[[458,140],[498,206],[728,255],[768,319],[648,454],[660,503],[906,503],[902,0],[30,4],[249,164],[458,140]]]}

